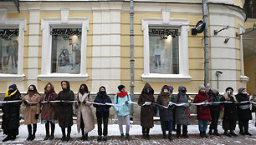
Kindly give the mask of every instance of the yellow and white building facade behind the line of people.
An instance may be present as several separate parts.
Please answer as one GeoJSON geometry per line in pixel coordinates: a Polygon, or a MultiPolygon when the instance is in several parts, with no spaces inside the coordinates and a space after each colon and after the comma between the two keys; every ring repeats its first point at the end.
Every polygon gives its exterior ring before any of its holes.
{"type": "MultiPolygon", "coordinates": [[[[203,33],[192,35],[192,28],[202,19],[202,1],[134,2],[135,93],[140,93],[146,82],[156,93],[164,84],[172,85],[174,92],[183,85],[188,93],[197,93],[204,81],[204,44],[203,33]],[[161,47],[161,42],[166,42],[168,38],[156,40],[148,33],[162,28],[179,33],[172,36],[170,44],[172,50],[177,48],[176,52],[163,48],[168,59],[158,59],[157,54],[151,54],[156,51],[152,46],[161,47]],[[176,60],[173,57],[177,57],[176,60]],[[173,67],[174,64],[176,67],[173,67]]],[[[250,25],[244,23],[243,2],[208,0],[209,86],[218,87],[219,92],[224,92],[229,86],[238,90],[239,87],[246,87],[248,82],[243,68],[243,37],[236,36],[236,32],[241,33],[250,25]],[[214,30],[227,25],[227,30],[214,35],[214,30]],[[226,38],[228,42],[225,42],[226,38]],[[223,74],[217,77],[217,71],[223,74]]],[[[59,92],[62,80],[69,80],[74,92],[79,90],[81,83],[87,84],[93,93],[98,92],[102,85],[107,92],[115,93],[120,84],[130,91],[129,1],[20,1],[20,13],[13,2],[0,3],[0,28],[19,29],[17,73],[1,72],[0,92],[5,92],[13,83],[21,92],[27,92],[30,84],[35,84],[38,92],[44,92],[47,82],[52,82],[59,92]],[[74,64],[72,68],[59,64],[60,60],[66,63],[63,57],[59,58],[62,52],[58,52],[65,48],[60,46],[62,40],[57,41],[59,35],[54,36],[51,32],[61,28],[79,29],[82,33],[78,41],[80,57],[77,58],[77,53],[75,58],[69,54],[69,64],[74,64]],[[57,46],[57,52],[54,52],[54,46],[57,46]],[[76,68],[78,72],[75,72],[76,68]]],[[[66,42],[70,41],[65,38],[66,42]]]]}

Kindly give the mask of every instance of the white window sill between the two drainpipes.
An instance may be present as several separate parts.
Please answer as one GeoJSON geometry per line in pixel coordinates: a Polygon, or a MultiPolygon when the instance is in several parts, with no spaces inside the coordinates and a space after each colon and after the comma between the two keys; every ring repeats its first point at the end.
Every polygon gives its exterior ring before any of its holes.
{"type": "Polygon", "coordinates": [[[183,76],[182,74],[159,74],[150,73],[141,75],[143,82],[189,82],[192,77],[183,76]]]}

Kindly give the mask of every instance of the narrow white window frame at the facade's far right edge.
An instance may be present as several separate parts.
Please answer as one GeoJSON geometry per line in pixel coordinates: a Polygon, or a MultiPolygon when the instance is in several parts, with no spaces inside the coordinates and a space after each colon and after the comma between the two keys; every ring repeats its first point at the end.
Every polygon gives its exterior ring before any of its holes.
{"type": "MultiPolygon", "coordinates": [[[[246,28],[244,28],[241,24],[238,24],[238,32],[243,33],[245,32],[246,28]]],[[[243,66],[243,35],[239,36],[240,38],[240,54],[241,54],[241,76],[240,80],[241,82],[248,82],[249,77],[244,75],[244,66],[243,66]]]]}

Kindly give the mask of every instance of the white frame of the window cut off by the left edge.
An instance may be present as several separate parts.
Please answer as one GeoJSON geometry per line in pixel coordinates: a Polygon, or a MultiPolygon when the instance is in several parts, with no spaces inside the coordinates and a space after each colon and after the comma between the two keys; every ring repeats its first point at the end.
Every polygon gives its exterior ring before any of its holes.
{"type": "Polygon", "coordinates": [[[24,32],[27,30],[27,19],[7,18],[7,9],[0,9],[0,28],[18,28],[18,73],[0,73],[0,81],[23,81],[24,32]]]}

